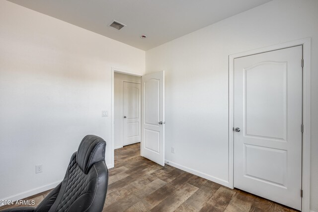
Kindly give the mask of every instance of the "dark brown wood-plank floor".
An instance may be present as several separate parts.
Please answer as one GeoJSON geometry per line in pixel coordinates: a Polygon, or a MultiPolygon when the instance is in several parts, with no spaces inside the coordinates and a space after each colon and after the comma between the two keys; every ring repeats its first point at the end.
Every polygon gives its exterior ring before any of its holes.
{"type": "MultiPolygon", "coordinates": [[[[50,191],[26,198],[36,205],[50,191]]],[[[10,207],[5,207],[10,208],[10,207]]],[[[0,210],[4,209],[1,207],[0,210]]],[[[103,212],[297,212],[140,156],[140,144],[115,150],[103,212]]]]}

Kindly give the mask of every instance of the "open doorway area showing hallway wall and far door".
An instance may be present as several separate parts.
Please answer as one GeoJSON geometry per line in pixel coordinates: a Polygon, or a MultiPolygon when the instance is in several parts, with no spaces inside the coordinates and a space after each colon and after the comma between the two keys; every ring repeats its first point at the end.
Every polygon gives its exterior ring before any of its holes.
{"type": "Polygon", "coordinates": [[[114,72],[114,148],[141,141],[141,76],[114,72]]]}

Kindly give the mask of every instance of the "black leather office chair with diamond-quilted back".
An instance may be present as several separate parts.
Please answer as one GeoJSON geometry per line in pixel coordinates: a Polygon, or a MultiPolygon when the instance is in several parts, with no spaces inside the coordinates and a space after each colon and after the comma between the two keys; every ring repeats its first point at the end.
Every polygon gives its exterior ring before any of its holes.
{"type": "Polygon", "coordinates": [[[64,180],[36,208],[1,212],[101,212],[108,184],[105,147],[103,139],[85,136],[71,157],[64,180]]]}

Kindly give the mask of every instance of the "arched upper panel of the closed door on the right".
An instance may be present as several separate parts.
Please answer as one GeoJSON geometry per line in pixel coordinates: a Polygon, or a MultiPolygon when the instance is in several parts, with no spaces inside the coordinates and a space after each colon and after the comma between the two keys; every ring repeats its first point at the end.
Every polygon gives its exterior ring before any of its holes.
{"type": "MultiPolygon", "coordinates": [[[[266,61],[257,63],[254,66],[245,68],[243,71],[243,88],[245,101],[245,114],[244,114],[244,136],[253,136],[253,137],[264,137],[268,139],[274,140],[283,140],[286,141],[287,138],[287,62],[276,62],[276,61],[266,61]],[[267,68],[267,71],[262,71],[261,68],[267,68]],[[272,77],[276,74],[275,77],[272,77]],[[280,80],[281,79],[281,80],[280,80]],[[271,114],[273,111],[277,111],[277,104],[272,102],[270,104],[270,99],[266,99],[266,94],[268,90],[266,86],[270,81],[271,86],[275,84],[275,86],[279,87],[279,90],[283,90],[284,95],[279,95],[280,93],[273,93],[272,95],[276,95],[277,99],[282,99],[282,107],[279,109],[280,113],[271,114]],[[281,83],[283,81],[283,83],[281,83]],[[264,83],[265,82],[265,83],[264,83]],[[272,128],[269,130],[265,123],[260,122],[259,119],[256,119],[254,122],[252,121],[253,114],[247,113],[247,108],[254,108],[254,110],[260,109],[261,107],[257,107],[255,103],[253,103],[253,99],[257,99],[258,96],[262,96],[262,104],[267,104],[266,108],[263,108],[260,111],[257,111],[257,114],[266,114],[266,117],[271,117],[272,120],[267,120],[268,122],[272,121],[272,128]],[[251,101],[252,99],[252,101],[251,101]],[[279,116],[281,122],[277,122],[277,116],[279,116]],[[275,120],[273,120],[273,118],[275,120]],[[277,133],[283,132],[282,135],[278,135],[277,133]],[[271,135],[269,135],[271,134],[271,135]]],[[[268,96],[267,96],[268,97],[268,96]]],[[[255,113],[254,113],[255,114],[255,113]]],[[[263,117],[264,118],[264,117],[263,117]]]]}

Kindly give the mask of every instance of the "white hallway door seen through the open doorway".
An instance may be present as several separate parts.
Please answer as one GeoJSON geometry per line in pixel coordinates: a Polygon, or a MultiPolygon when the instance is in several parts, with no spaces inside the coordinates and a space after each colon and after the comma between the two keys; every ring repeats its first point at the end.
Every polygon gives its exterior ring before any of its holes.
{"type": "Polygon", "coordinates": [[[123,145],[141,140],[141,85],[123,82],[123,145]]]}

